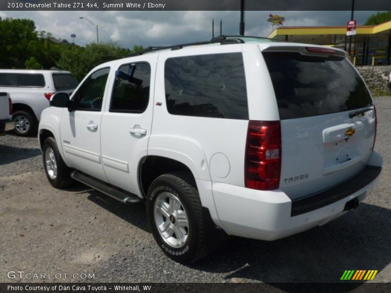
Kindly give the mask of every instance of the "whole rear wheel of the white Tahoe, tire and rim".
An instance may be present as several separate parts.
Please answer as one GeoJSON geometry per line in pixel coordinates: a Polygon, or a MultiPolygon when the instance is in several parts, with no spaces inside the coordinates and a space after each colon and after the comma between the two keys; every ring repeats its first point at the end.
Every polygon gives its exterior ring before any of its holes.
{"type": "Polygon", "coordinates": [[[201,202],[187,173],[157,177],[148,190],[146,209],[153,237],[171,259],[190,263],[207,253],[201,202]]]}

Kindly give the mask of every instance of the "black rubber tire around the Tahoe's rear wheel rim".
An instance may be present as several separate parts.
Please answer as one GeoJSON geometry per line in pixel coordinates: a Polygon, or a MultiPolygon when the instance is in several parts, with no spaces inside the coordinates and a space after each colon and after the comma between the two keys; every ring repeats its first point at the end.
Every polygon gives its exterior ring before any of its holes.
{"type": "MultiPolygon", "coordinates": [[[[205,227],[207,223],[203,220],[202,206],[192,176],[189,176],[185,172],[173,172],[157,177],[148,190],[146,209],[148,223],[151,227],[153,237],[160,249],[171,259],[179,263],[191,263],[202,258],[209,252],[209,242],[206,239],[207,236],[205,233],[208,227],[205,227]],[[183,206],[187,214],[187,240],[180,248],[176,248],[167,243],[160,235],[157,224],[155,223],[155,200],[163,192],[174,194],[180,200],[181,207],[183,206]]],[[[173,222],[170,222],[171,224],[173,222]]]]}

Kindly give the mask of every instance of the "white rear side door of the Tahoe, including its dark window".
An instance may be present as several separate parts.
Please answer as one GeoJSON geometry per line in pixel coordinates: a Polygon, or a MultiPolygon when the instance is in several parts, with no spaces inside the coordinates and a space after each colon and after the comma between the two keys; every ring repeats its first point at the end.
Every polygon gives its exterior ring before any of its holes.
{"type": "Polygon", "coordinates": [[[109,183],[134,194],[139,194],[138,162],[147,155],[151,135],[151,76],[157,57],[142,58],[139,62],[117,63],[101,129],[102,162],[109,183]]]}

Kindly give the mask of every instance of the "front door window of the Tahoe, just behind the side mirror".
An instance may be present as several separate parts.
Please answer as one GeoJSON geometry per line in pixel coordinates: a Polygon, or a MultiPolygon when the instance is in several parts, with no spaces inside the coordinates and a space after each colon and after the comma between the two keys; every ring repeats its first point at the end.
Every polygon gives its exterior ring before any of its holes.
{"type": "Polygon", "coordinates": [[[100,111],[110,68],[98,69],[79,87],[74,95],[76,110],[100,111]]]}

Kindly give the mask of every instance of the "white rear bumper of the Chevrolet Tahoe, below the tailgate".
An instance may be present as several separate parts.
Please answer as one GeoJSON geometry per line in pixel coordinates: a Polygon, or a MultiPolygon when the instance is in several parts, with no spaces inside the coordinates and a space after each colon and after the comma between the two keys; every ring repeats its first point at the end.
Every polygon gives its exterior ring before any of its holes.
{"type": "MultiPolygon", "coordinates": [[[[292,215],[295,204],[280,189],[260,191],[214,183],[213,196],[221,228],[230,235],[275,240],[326,224],[346,212],[344,209],[348,201],[357,198],[362,202],[367,197],[381,170],[381,165],[372,167],[374,166],[368,167],[368,170],[373,172],[372,175],[369,176],[367,171],[364,173],[371,178],[365,182],[365,185],[352,187],[350,190],[344,189],[343,197],[331,195],[332,200],[326,205],[322,198],[320,200],[322,205],[312,205],[315,202],[313,201],[309,205],[311,210],[307,210],[308,205],[303,205],[305,210],[302,209],[297,215],[292,215]]],[[[357,180],[360,178],[363,180],[362,172],[350,180],[354,180],[355,177],[357,180]]],[[[348,181],[355,182],[350,180],[348,181]]],[[[314,199],[319,198],[314,197],[314,199]]],[[[307,204],[305,201],[301,204],[303,203],[307,204]]]]}

